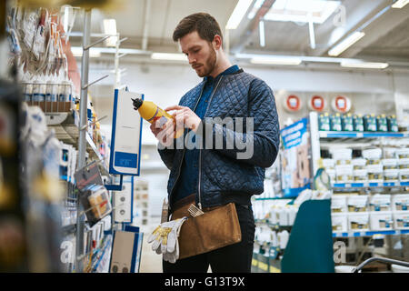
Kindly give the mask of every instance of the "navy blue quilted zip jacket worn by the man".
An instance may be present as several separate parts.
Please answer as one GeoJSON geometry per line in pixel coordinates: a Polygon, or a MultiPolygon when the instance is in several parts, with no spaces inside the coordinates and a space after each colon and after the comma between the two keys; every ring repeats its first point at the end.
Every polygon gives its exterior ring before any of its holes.
{"type": "MultiPolygon", "coordinates": [[[[279,125],[274,94],[263,80],[245,73],[243,69],[232,75],[219,75],[214,81],[216,85],[202,120],[203,132],[209,131],[214,135],[213,143],[215,136],[223,136],[224,145],[232,137],[253,142],[254,155],[238,159],[237,154],[244,152],[243,147],[215,149],[213,145],[213,149],[206,149],[204,146],[199,154],[196,205],[210,207],[229,202],[249,205],[251,196],[263,193],[264,168],[273,165],[278,153],[279,125]],[[244,117],[244,131],[234,132],[229,126],[209,122],[207,117],[244,117]],[[254,117],[254,131],[246,131],[245,117],[254,117]]],[[[204,85],[205,81],[187,92],[179,105],[195,111],[204,85]]],[[[171,171],[167,185],[169,201],[175,192],[185,150],[175,147],[158,149],[165,166],[171,171]]]]}

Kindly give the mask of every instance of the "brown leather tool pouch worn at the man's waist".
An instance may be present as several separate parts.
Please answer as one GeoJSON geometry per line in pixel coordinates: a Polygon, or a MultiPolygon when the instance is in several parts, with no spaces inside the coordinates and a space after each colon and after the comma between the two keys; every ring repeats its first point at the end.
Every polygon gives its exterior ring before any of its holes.
{"type": "Polygon", "coordinates": [[[182,225],[178,238],[179,259],[241,242],[242,232],[234,203],[204,208],[205,214],[195,217],[189,215],[189,206],[183,206],[172,214],[172,220],[189,217],[182,225]]]}

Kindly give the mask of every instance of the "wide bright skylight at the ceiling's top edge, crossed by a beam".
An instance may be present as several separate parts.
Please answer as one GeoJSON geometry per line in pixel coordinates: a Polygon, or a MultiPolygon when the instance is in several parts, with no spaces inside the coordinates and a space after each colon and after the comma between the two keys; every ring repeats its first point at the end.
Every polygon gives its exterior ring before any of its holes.
{"type": "MultiPolygon", "coordinates": [[[[257,0],[248,18],[254,18],[264,1],[257,0]]],[[[264,15],[264,20],[292,21],[300,23],[313,22],[322,24],[341,4],[340,1],[324,0],[275,0],[274,5],[264,15]]]]}

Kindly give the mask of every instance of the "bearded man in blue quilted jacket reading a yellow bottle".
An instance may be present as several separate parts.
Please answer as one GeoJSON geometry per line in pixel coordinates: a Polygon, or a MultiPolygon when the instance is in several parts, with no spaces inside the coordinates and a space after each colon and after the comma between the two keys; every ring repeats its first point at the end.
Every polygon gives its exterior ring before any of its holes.
{"type": "Polygon", "coordinates": [[[250,272],[255,228],[250,198],[263,193],[264,168],[273,165],[279,146],[274,94],[263,80],[230,63],[213,16],[186,16],[173,38],[204,79],[179,105],[165,108],[173,111],[175,125],[151,125],[159,154],[171,171],[170,212],[191,203],[205,210],[233,202],[242,241],[175,264],[164,261],[164,272],[203,273],[209,266],[214,273],[250,272]],[[182,144],[174,139],[180,124],[189,128],[182,144]]]}

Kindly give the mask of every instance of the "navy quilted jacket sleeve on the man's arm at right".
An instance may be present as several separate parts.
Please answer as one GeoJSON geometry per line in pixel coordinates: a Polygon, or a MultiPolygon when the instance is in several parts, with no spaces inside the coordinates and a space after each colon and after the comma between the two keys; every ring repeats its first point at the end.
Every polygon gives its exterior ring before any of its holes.
{"type": "Polygon", "coordinates": [[[232,129],[205,118],[201,128],[205,145],[209,146],[206,132],[211,132],[210,143],[219,153],[254,166],[272,166],[279,146],[278,115],[273,91],[260,79],[254,79],[249,88],[248,117],[243,131],[235,130],[236,125],[232,129]],[[217,138],[223,139],[223,146],[217,146],[217,138]],[[226,146],[228,143],[232,145],[232,141],[234,146],[226,146]]]}

